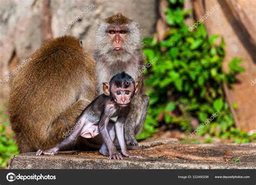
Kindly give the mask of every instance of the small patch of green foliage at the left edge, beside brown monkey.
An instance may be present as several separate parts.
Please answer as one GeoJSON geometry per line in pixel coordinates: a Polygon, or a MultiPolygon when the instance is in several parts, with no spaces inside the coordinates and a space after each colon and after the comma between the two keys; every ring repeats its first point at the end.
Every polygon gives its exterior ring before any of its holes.
{"type": "Polygon", "coordinates": [[[8,117],[5,115],[3,108],[0,110],[0,168],[5,168],[11,157],[18,154],[18,148],[11,138],[10,129],[10,133],[8,133],[9,122],[5,120],[8,120],[8,117]]]}

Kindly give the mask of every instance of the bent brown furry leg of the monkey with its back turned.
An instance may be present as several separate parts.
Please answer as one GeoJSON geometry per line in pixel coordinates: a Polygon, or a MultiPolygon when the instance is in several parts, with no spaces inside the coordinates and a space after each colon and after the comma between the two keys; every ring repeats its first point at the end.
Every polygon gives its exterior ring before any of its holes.
{"type": "Polygon", "coordinates": [[[51,148],[56,146],[60,140],[64,139],[69,134],[70,129],[75,125],[78,116],[81,115],[83,110],[91,102],[88,99],[79,99],[75,104],[70,106],[65,112],[62,113],[52,126],[49,127],[49,139],[45,141],[41,147],[38,148],[51,148]]]}

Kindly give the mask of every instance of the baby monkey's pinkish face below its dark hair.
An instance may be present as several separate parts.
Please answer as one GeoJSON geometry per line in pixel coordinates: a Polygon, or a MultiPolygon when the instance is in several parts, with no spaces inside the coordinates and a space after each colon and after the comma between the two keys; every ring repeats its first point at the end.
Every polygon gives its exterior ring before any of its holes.
{"type": "Polygon", "coordinates": [[[127,88],[120,88],[115,86],[114,84],[111,87],[111,94],[114,98],[114,101],[121,107],[129,105],[134,95],[134,91],[135,87],[132,83],[130,83],[130,86],[127,88]]]}

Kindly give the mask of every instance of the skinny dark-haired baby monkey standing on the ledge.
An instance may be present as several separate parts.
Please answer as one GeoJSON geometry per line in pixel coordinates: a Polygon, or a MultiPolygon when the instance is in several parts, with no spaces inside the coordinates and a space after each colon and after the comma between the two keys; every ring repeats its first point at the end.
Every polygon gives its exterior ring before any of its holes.
{"type": "Polygon", "coordinates": [[[130,102],[138,89],[139,82],[134,82],[125,72],[114,75],[109,83],[103,83],[104,94],[99,95],[82,112],[70,135],[50,150],[39,149],[36,155],[55,155],[77,143],[79,136],[94,138],[100,133],[104,141],[99,150],[101,154],[117,160],[123,159],[123,156],[139,157],[128,152],[124,139],[124,123],[130,111],[130,102]],[[118,117],[116,123],[111,121],[114,117],[118,117]],[[123,156],[114,146],[116,137],[123,156]]]}

